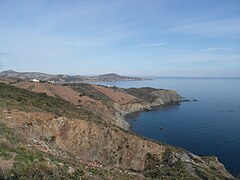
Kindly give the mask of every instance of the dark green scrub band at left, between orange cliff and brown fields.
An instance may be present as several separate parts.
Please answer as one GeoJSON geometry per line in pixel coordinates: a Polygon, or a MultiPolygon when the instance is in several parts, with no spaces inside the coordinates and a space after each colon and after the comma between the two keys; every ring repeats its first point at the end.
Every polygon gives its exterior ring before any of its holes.
{"type": "Polygon", "coordinates": [[[0,107],[27,112],[50,112],[57,116],[70,118],[101,120],[100,116],[96,116],[86,107],[76,107],[60,97],[50,97],[45,93],[34,93],[3,83],[0,83],[0,107]]]}

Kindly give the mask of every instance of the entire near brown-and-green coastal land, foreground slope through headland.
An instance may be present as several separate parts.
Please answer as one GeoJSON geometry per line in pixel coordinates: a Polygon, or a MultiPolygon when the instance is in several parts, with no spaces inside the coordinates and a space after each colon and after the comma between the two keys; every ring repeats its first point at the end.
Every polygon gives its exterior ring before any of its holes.
{"type": "Polygon", "coordinates": [[[39,87],[0,83],[0,178],[233,179],[215,157],[199,157],[119,127],[128,112],[181,100],[175,91],[52,86],[56,89],[47,96],[29,91],[39,87]],[[57,95],[60,89],[91,101],[75,105],[57,95]],[[144,91],[150,100],[139,96],[144,91]]]}

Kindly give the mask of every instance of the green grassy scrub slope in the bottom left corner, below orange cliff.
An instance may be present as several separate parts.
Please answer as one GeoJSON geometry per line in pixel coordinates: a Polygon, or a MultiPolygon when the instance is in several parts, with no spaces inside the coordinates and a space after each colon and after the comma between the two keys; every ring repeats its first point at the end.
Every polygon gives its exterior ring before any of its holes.
{"type": "Polygon", "coordinates": [[[0,179],[134,179],[134,175],[115,169],[90,167],[41,152],[29,146],[21,134],[0,123],[0,165],[8,160],[13,166],[0,168],[0,179]]]}

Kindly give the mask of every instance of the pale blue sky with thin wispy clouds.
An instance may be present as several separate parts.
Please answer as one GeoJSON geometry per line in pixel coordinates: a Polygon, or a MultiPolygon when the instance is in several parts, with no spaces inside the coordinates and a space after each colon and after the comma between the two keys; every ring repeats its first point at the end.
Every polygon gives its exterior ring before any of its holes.
{"type": "Polygon", "coordinates": [[[0,71],[240,77],[240,0],[0,0],[0,71]]]}

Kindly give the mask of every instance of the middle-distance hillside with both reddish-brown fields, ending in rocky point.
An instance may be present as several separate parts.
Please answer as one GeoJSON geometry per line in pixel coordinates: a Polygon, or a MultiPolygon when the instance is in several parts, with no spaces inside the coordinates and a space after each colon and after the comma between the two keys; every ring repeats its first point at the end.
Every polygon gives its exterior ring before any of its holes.
{"type": "MultiPolygon", "coordinates": [[[[141,97],[128,94],[126,89],[94,84],[66,84],[65,86],[60,86],[22,81],[13,85],[37,93],[46,93],[48,96],[60,97],[77,105],[79,109],[87,109],[89,112],[94,112],[97,117],[102,117],[101,119],[104,122],[123,129],[129,129],[129,124],[124,120],[124,116],[127,113],[151,109],[151,106],[162,104],[162,102],[157,101],[157,96],[153,94],[149,94],[151,96],[149,100],[155,99],[156,102],[146,101],[141,97]]],[[[159,90],[155,89],[155,91],[159,90]]],[[[181,101],[181,97],[175,91],[160,91],[165,94],[166,98],[170,97],[166,103],[181,101]]],[[[136,95],[138,94],[137,92],[135,93],[136,95]]]]}

